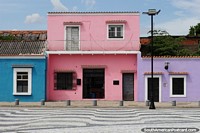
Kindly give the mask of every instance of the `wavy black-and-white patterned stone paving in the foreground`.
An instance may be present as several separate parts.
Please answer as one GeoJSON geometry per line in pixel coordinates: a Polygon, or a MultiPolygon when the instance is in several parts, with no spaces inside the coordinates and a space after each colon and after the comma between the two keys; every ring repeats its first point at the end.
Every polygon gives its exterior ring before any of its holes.
{"type": "Polygon", "coordinates": [[[1,133],[140,133],[146,127],[198,128],[198,108],[1,107],[1,133]]]}

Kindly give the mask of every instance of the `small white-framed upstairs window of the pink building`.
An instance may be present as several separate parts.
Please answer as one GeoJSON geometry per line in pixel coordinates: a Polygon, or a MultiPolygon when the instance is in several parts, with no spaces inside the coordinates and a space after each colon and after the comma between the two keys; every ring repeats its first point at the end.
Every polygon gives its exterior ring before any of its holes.
{"type": "Polygon", "coordinates": [[[123,25],[108,25],[108,38],[123,38],[123,25]]]}

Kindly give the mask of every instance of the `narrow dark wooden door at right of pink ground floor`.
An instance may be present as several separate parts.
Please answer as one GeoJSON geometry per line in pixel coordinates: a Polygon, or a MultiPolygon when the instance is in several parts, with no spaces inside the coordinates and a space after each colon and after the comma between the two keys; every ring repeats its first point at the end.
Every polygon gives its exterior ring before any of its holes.
{"type": "Polygon", "coordinates": [[[133,101],[134,100],[134,74],[124,73],[123,74],[123,100],[133,101]]]}

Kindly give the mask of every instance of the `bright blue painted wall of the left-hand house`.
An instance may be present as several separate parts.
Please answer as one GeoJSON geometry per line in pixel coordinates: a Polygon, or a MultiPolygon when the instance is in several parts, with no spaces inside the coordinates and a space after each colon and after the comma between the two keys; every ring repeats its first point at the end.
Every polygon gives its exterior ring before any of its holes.
{"type": "Polygon", "coordinates": [[[45,99],[45,59],[0,59],[0,101],[37,102],[45,99]],[[12,65],[32,65],[32,95],[13,95],[12,65]]]}

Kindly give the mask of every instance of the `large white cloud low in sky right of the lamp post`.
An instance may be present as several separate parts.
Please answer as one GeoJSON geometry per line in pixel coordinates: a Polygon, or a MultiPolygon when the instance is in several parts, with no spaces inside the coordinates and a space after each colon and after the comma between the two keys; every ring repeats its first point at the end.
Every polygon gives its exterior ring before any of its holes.
{"type": "Polygon", "coordinates": [[[155,29],[166,30],[170,35],[187,35],[190,26],[194,26],[200,22],[200,18],[187,17],[177,18],[162,24],[155,25],[155,29]]]}

